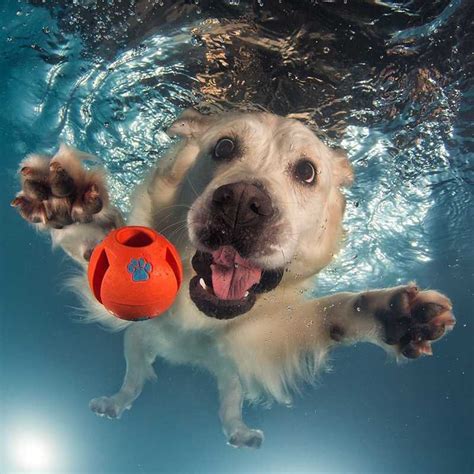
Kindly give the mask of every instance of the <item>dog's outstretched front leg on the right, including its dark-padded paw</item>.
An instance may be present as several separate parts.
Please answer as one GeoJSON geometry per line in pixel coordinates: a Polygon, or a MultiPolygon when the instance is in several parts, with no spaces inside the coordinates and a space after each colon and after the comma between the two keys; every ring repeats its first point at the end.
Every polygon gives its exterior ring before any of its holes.
{"type": "Polygon", "coordinates": [[[339,293],[313,301],[320,337],[330,346],[369,341],[397,356],[431,355],[431,343],[455,324],[450,300],[416,285],[339,293]],[[322,327],[321,327],[322,326],[322,327]]]}

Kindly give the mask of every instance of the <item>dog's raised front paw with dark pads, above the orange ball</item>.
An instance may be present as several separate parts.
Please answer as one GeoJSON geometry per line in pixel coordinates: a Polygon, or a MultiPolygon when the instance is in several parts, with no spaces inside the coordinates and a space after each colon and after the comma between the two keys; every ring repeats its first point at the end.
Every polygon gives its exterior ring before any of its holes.
{"type": "Polygon", "coordinates": [[[65,145],[51,159],[28,156],[20,165],[22,189],[11,203],[82,265],[111,229],[123,225],[109,204],[103,173],[87,171],[85,158],[90,157],[65,145]]]}

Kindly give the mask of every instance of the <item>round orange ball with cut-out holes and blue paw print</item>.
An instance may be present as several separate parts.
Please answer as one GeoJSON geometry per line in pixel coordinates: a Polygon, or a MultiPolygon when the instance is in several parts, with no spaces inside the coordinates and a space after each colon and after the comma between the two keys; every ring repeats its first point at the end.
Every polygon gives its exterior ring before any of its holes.
{"type": "Polygon", "coordinates": [[[175,247],[148,227],[112,231],[97,245],[88,269],[97,300],[128,321],[154,318],[174,302],[183,280],[175,247]]]}

